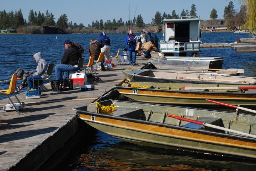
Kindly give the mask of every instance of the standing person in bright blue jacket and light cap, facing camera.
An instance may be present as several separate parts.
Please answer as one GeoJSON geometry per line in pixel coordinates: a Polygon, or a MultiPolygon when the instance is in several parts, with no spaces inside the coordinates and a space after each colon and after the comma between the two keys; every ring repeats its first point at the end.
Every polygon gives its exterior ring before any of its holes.
{"type": "Polygon", "coordinates": [[[129,55],[129,64],[135,66],[136,65],[136,57],[137,52],[136,48],[136,40],[135,35],[133,35],[133,31],[129,31],[129,35],[124,39],[124,42],[127,44],[127,50],[129,55]]]}

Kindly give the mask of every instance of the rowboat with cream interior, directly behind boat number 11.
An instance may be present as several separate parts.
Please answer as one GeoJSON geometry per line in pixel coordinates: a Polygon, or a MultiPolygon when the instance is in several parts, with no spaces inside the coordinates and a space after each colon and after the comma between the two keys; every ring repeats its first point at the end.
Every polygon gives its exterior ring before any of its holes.
{"type": "Polygon", "coordinates": [[[164,70],[123,71],[125,78],[138,82],[195,83],[195,84],[255,84],[256,78],[225,76],[164,70]]]}

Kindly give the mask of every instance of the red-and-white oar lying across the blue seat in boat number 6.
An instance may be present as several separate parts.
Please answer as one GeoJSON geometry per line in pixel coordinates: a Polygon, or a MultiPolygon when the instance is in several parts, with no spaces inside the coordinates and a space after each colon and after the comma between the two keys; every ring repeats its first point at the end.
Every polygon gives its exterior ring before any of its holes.
{"type": "Polygon", "coordinates": [[[178,119],[178,120],[186,121],[186,122],[196,123],[198,125],[203,125],[205,127],[215,128],[215,129],[219,129],[219,130],[222,130],[222,131],[227,131],[227,132],[232,132],[232,133],[235,133],[235,134],[239,134],[239,135],[242,135],[242,136],[256,138],[256,136],[252,135],[252,134],[247,134],[247,133],[244,133],[244,132],[241,132],[241,131],[236,131],[234,129],[223,128],[223,127],[220,127],[220,126],[212,125],[210,123],[195,121],[195,120],[184,118],[184,117],[180,117],[180,116],[173,116],[173,115],[167,115],[167,116],[173,117],[173,118],[178,119]]]}

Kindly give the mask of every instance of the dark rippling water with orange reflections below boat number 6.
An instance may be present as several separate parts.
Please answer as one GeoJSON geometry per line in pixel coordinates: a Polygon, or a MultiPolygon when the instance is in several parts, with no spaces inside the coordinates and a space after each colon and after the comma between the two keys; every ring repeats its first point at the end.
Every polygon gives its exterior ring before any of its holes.
{"type": "Polygon", "coordinates": [[[135,145],[97,131],[73,170],[253,170],[253,161],[135,145]]]}

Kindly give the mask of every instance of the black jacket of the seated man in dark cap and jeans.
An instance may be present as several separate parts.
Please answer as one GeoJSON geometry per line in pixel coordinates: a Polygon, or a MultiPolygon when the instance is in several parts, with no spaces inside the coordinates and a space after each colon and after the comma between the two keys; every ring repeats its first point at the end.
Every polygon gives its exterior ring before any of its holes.
{"type": "Polygon", "coordinates": [[[78,51],[78,47],[76,45],[71,45],[65,50],[61,64],[77,65],[80,57],[81,54],[78,51]]]}

